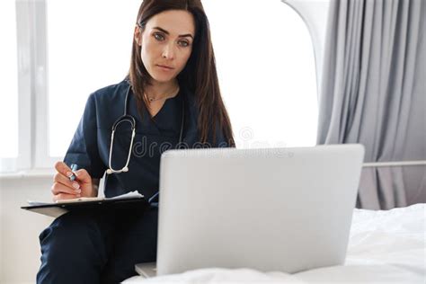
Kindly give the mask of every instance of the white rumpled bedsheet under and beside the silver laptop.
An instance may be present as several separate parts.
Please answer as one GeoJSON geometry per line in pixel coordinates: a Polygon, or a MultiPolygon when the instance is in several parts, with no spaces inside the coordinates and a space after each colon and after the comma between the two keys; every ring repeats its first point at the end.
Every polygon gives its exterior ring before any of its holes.
{"type": "Polygon", "coordinates": [[[346,262],[296,274],[202,269],[124,283],[426,283],[426,204],[387,211],[355,209],[346,262]]]}

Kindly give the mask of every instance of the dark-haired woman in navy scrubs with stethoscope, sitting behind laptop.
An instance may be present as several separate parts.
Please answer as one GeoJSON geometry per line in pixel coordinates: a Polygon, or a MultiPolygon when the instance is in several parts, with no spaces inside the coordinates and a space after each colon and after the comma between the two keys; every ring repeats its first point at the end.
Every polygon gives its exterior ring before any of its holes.
{"type": "Polygon", "coordinates": [[[158,191],[160,155],[200,146],[235,146],[208,19],[200,0],[145,0],[129,75],[90,95],[64,162],[55,165],[52,193],[53,200],[97,196],[107,172],[107,197],[139,191],[152,206],[58,217],[40,234],[37,281],[116,283],[135,275],[136,263],[155,262],[157,208],[151,198],[158,191]],[[74,182],[70,164],[80,167],[74,182]]]}

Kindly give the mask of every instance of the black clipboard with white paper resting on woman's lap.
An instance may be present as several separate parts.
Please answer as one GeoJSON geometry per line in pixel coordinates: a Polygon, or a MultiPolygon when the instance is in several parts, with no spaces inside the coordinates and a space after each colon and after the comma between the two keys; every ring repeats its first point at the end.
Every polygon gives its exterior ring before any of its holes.
{"type": "Polygon", "coordinates": [[[123,199],[93,198],[93,200],[75,200],[71,202],[34,203],[34,205],[22,206],[21,209],[49,217],[59,217],[71,210],[146,209],[149,207],[149,202],[142,195],[123,199]]]}

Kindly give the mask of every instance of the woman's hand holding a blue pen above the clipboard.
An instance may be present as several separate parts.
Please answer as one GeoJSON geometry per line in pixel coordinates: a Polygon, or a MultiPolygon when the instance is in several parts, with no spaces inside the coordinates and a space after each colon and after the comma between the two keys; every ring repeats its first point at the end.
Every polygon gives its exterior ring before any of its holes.
{"type": "Polygon", "coordinates": [[[92,177],[86,170],[75,171],[75,181],[71,182],[69,177],[73,174],[71,169],[64,162],[57,162],[52,185],[53,200],[70,200],[79,197],[96,197],[98,190],[93,184],[92,177]]]}

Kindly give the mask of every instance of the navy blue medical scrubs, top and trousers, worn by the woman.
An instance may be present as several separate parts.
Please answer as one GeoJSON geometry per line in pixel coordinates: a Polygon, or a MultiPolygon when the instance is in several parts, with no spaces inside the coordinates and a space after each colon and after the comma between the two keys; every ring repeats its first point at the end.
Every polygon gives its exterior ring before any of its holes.
{"type": "MultiPolygon", "coordinates": [[[[92,178],[102,178],[109,164],[111,128],[124,112],[129,82],[102,88],[92,93],[86,103],[75,136],[64,161],[78,164],[92,178]]],[[[128,113],[136,120],[136,137],[131,149],[129,172],[107,174],[107,197],[139,191],[147,199],[158,191],[161,154],[171,148],[200,147],[197,130],[198,111],[194,96],[187,89],[164,102],[151,117],[130,93],[128,113]],[[184,125],[182,143],[179,137],[184,125]]],[[[114,137],[111,166],[126,164],[130,145],[129,123],[120,123],[114,137]]],[[[216,140],[210,133],[208,145],[228,146],[221,131],[216,140]]],[[[58,217],[40,234],[41,266],[38,283],[117,283],[136,275],[138,262],[155,262],[157,215],[148,209],[120,209],[68,212],[58,217]]]]}

